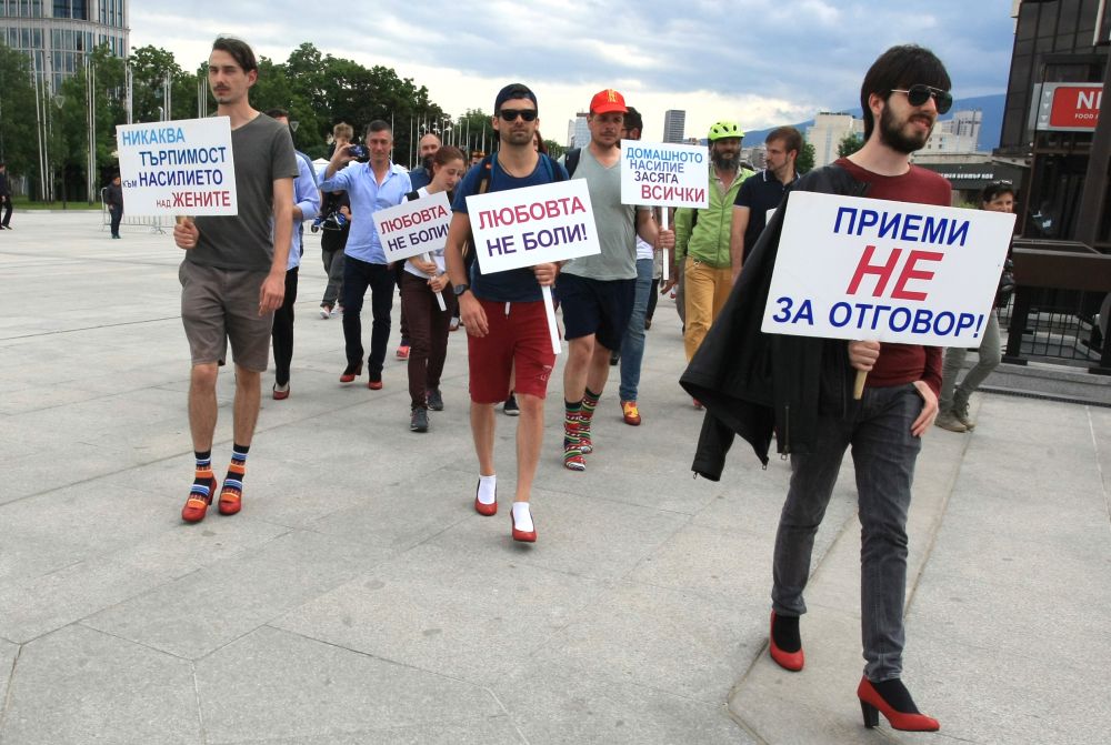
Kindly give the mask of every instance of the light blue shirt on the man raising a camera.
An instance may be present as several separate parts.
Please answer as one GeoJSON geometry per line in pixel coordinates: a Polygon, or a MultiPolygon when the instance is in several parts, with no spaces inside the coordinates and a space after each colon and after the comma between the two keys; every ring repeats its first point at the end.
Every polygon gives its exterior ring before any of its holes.
{"type": "Polygon", "coordinates": [[[409,173],[390,163],[386,179],[379,184],[370,163],[354,163],[321,181],[320,190],[346,191],[351,200],[351,233],[343,254],[371,264],[388,263],[371,215],[406,200],[406,194],[413,190],[409,173]]]}

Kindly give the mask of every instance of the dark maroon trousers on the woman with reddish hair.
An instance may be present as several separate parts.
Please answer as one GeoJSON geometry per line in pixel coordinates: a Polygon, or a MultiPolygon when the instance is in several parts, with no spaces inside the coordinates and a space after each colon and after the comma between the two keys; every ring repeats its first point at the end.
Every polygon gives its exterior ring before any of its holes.
{"type": "Polygon", "coordinates": [[[441,293],[448,310],[441,311],[428,280],[401,275],[401,312],[409,319],[409,399],[413,407],[424,405],[424,392],[440,387],[448,358],[448,322],[456,311],[456,295],[441,293]]]}

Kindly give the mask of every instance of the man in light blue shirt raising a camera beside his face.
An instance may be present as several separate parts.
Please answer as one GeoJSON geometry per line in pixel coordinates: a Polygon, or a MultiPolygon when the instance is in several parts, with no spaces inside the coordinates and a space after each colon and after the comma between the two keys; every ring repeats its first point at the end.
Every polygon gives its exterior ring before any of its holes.
{"type": "Polygon", "coordinates": [[[320,182],[321,191],[346,191],[351,200],[351,233],[343,249],[343,340],[347,368],[341,383],[351,383],[362,374],[363,296],[370,288],[373,324],[370,356],[367,359],[367,387],[382,387],[382,365],[390,341],[390,312],[393,310],[394,273],[387,265],[386,252],[374,229],[374,212],[400,204],[412,191],[409,174],[390,160],[393,131],[389,123],[374,120],[367,128],[366,148],[370,162],[347,165],[357,145],[337,148],[320,182]]]}

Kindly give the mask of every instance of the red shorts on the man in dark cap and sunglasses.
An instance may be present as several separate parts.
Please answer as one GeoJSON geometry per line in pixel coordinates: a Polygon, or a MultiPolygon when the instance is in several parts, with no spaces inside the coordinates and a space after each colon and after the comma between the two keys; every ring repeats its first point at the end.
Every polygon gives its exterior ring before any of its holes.
{"type": "Polygon", "coordinates": [[[490,331],[467,336],[471,401],[499,403],[513,391],[541,399],[556,366],[548,315],[541,301],[496,303],[479,299],[490,331]]]}

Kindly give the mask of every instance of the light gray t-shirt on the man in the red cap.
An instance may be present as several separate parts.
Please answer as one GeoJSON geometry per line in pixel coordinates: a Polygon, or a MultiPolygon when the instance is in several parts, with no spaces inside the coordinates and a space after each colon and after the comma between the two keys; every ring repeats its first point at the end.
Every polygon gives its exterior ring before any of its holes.
{"type": "Polygon", "coordinates": [[[583,148],[571,178],[587,180],[602,252],[572,259],[561,271],[602,281],[637,279],[637,213],[621,203],[621,160],[605,168],[583,148]]]}

